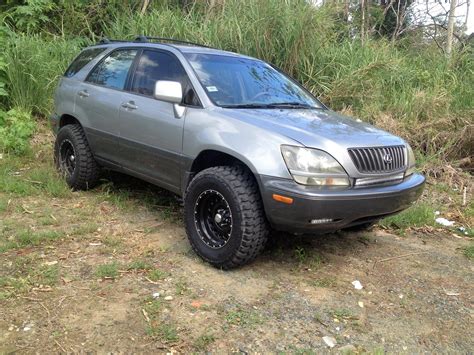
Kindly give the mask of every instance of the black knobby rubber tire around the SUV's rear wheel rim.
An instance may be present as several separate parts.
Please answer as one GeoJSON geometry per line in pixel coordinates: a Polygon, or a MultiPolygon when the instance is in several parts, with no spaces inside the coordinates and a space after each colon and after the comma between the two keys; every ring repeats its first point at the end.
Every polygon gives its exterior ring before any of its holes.
{"type": "Polygon", "coordinates": [[[92,155],[80,125],[66,125],[59,130],[54,144],[54,161],[56,168],[73,190],[88,190],[97,185],[100,166],[92,155]],[[64,142],[70,143],[74,149],[75,167],[71,174],[65,172],[60,163],[60,149],[64,142]]]}

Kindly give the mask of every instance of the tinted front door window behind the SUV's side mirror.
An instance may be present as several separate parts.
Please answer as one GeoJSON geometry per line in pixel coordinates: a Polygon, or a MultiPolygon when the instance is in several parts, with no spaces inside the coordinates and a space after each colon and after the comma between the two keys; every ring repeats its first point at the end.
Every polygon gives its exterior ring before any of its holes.
{"type": "Polygon", "coordinates": [[[153,96],[155,83],[158,80],[179,81],[183,86],[184,102],[199,105],[199,100],[178,59],[163,52],[144,50],[133,75],[131,91],[153,96]]]}

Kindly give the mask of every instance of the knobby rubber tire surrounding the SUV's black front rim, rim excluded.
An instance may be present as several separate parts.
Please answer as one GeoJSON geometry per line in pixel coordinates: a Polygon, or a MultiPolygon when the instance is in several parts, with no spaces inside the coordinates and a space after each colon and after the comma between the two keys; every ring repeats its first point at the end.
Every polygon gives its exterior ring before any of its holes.
{"type": "Polygon", "coordinates": [[[194,251],[221,269],[247,264],[265,247],[269,226],[254,176],[244,167],[218,166],[201,171],[189,184],[184,200],[186,233],[194,251]],[[227,244],[213,249],[201,238],[195,208],[205,191],[217,191],[232,213],[232,230],[227,244]]]}

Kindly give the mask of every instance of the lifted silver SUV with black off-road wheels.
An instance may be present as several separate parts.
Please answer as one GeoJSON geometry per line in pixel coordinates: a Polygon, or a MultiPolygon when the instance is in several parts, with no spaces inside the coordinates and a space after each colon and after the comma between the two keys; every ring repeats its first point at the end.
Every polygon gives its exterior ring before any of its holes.
{"type": "Polygon", "coordinates": [[[331,111],[268,63],[183,41],[86,48],[51,122],[73,189],[106,168],[184,197],[193,249],[224,269],[254,259],[272,228],[368,227],[425,181],[401,138],[331,111]]]}

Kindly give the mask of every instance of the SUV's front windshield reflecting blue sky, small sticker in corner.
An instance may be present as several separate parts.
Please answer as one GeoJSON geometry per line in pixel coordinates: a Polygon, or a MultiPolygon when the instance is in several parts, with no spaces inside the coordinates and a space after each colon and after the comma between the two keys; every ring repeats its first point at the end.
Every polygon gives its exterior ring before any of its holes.
{"type": "Polygon", "coordinates": [[[259,60],[187,53],[210,99],[235,108],[322,108],[293,80],[259,60]]]}

